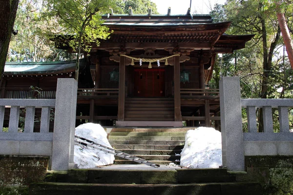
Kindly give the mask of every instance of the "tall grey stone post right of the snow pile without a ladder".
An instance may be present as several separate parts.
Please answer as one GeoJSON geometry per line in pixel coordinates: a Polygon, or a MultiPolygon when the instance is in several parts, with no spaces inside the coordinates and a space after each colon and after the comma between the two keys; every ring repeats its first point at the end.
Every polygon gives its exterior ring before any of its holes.
{"type": "Polygon", "coordinates": [[[241,94],[238,77],[220,80],[220,109],[223,166],[230,171],[244,171],[241,94]]]}

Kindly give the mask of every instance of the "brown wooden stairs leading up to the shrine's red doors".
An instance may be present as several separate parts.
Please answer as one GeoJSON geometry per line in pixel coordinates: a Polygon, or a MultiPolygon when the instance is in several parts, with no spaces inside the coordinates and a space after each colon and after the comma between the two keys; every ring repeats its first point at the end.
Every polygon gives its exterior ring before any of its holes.
{"type": "Polygon", "coordinates": [[[174,121],[173,98],[126,98],[125,121],[174,121]]]}

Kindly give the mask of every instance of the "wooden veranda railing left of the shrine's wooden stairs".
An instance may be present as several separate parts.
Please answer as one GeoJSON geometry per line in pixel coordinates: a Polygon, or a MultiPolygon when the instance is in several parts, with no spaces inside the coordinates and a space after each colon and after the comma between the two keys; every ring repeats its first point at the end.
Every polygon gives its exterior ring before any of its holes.
{"type": "Polygon", "coordinates": [[[78,89],[77,96],[118,97],[119,89],[78,89]]]}

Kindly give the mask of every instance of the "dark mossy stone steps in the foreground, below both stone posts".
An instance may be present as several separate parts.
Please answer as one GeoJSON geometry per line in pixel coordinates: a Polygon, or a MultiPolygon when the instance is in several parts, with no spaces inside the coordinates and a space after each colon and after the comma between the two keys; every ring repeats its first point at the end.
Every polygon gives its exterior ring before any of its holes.
{"type": "Polygon", "coordinates": [[[241,175],[226,169],[71,169],[29,185],[29,195],[262,195],[259,183],[241,175]]]}

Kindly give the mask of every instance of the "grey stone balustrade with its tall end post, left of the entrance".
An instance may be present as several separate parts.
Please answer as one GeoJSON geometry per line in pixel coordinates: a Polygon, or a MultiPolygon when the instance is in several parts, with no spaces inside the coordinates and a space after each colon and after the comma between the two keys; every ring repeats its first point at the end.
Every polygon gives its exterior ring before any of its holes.
{"type": "Polygon", "coordinates": [[[52,170],[73,164],[77,82],[59,78],[56,99],[0,99],[0,129],[5,107],[10,107],[8,132],[0,131],[0,155],[50,156],[52,170]],[[20,108],[25,108],[24,130],[19,132],[20,108]],[[33,132],[35,109],[42,108],[40,132],[33,132]],[[55,108],[54,132],[49,132],[50,110],[55,108]]]}

